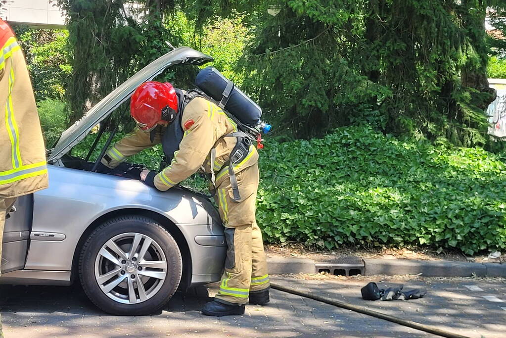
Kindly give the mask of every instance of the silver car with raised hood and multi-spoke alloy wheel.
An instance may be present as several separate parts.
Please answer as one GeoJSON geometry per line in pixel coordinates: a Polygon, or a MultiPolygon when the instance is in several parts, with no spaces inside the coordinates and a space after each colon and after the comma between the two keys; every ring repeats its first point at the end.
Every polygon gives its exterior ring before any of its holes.
{"type": "Polygon", "coordinates": [[[142,82],[174,65],[211,60],[188,47],[175,49],[62,133],[48,154],[49,189],[19,198],[9,214],[0,283],[69,285],[79,278],[102,310],[142,315],[163,307],[178,287],[220,279],[223,226],[205,196],[183,187],[157,191],[140,182],[139,168],[129,164],[112,175],[97,173],[98,160],[89,158],[103,129],[86,158],[70,155],[142,82]]]}

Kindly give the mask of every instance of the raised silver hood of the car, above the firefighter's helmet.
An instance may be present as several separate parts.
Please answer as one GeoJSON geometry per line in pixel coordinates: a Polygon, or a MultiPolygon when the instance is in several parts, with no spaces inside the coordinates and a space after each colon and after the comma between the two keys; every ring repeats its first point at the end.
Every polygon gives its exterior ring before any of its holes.
{"type": "Polygon", "coordinates": [[[150,81],[163,70],[175,64],[202,65],[209,61],[213,61],[213,58],[189,47],[180,47],[151,62],[134,76],[121,83],[120,86],[93,106],[80,120],[64,131],[58,143],[51,150],[48,162],[57,161],[84,139],[95,125],[109,116],[121,103],[128,100],[141,83],[150,81]]]}

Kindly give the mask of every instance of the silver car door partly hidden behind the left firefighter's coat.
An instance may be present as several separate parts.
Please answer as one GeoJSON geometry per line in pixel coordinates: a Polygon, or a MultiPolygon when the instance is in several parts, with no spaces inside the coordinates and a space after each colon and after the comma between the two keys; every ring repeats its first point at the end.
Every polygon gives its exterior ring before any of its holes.
{"type": "Polygon", "coordinates": [[[33,215],[33,194],[17,198],[5,222],[2,240],[2,264],[0,270],[6,273],[21,270],[25,266],[30,228],[33,215]]]}

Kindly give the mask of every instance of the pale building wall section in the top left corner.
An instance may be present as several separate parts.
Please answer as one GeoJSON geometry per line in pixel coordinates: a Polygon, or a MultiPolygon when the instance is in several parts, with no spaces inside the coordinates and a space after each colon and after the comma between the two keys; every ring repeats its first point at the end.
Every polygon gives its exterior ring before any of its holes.
{"type": "Polygon", "coordinates": [[[65,28],[66,16],[54,0],[7,0],[2,19],[34,28],[65,28]]]}

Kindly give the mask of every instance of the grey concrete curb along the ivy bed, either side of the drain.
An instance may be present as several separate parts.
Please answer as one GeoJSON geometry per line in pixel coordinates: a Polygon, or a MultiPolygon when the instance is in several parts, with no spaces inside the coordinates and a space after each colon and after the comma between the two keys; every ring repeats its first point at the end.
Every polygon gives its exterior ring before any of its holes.
{"type": "MultiPolygon", "coordinates": [[[[504,277],[506,264],[402,259],[363,259],[364,275],[416,275],[424,277],[504,277]]],[[[270,274],[317,273],[315,262],[304,258],[268,257],[270,274]]]]}

